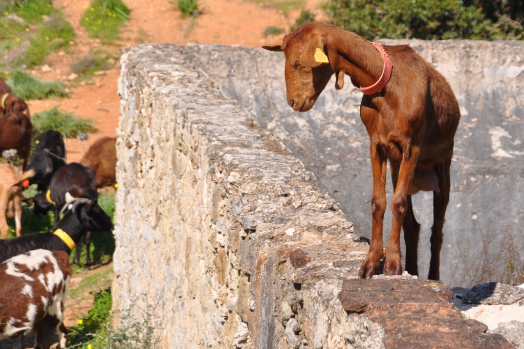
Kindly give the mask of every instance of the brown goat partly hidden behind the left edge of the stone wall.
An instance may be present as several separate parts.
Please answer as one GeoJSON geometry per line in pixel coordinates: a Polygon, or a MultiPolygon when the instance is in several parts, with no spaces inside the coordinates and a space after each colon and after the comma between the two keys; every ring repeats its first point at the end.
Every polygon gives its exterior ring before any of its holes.
{"type": "Polygon", "coordinates": [[[99,188],[116,184],[116,137],[97,139],[80,163],[95,171],[96,186],[99,188]]]}

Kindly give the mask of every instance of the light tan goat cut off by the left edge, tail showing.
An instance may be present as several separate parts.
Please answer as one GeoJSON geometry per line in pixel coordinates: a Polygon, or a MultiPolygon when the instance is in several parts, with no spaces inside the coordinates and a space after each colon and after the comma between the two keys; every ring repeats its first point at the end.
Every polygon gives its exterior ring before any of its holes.
{"type": "MultiPolygon", "coordinates": [[[[35,171],[29,170],[20,176],[19,170],[9,163],[0,163],[0,238],[6,239],[9,227],[6,218],[15,218],[16,236],[22,234],[22,186],[20,183],[32,177],[35,171]]],[[[27,183],[29,185],[29,183],[27,183]]]]}

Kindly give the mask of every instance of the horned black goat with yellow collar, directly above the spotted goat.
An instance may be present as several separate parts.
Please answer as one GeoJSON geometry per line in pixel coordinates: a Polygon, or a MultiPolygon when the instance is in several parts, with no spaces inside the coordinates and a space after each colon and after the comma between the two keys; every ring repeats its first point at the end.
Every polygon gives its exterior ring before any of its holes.
{"type": "Polygon", "coordinates": [[[70,254],[86,231],[103,232],[113,228],[111,217],[100,208],[96,200],[78,199],[72,205],[63,219],[54,225],[53,232],[25,234],[0,240],[0,263],[38,248],[70,254]]]}

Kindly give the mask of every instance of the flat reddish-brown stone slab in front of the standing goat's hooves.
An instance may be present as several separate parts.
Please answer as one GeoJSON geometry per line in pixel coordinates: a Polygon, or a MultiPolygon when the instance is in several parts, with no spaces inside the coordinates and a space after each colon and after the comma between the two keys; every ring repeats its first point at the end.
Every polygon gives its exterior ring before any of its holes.
{"type": "Polygon", "coordinates": [[[408,279],[344,280],[339,299],[348,312],[384,326],[386,348],[511,348],[487,326],[463,320],[441,281],[408,279]]]}

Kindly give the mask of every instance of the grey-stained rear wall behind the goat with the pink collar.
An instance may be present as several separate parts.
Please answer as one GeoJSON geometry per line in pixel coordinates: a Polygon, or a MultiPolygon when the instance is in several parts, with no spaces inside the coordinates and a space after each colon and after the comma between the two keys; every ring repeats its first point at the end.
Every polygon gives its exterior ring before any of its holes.
{"type": "MultiPolygon", "coordinates": [[[[461,107],[452,189],[444,225],[441,279],[449,286],[524,282],[524,42],[387,40],[407,43],[450,82],[461,107]],[[486,55],[486,50],[492,54],[486,55]]],[[[221,90],[283,141],[340,203],[359,236],[371,235],[369,140],[359,117],[362,93],[334,79],[313,110],[296,113],[285,99],[283,55],[241,47],[195,47],[188,56],[221,90]],[[206,52],[204,52],[206,51],[206,52]],[[212,52],[208,52],[212,51],[212,52]],[[235,51],[231,54],[231,51],[235,51]],[[233,69],[234,67],[234,69],[233,69]],[[227,72],[227,73],[224,73],[227,72]]],[[[389,176],[388,176],[389,177],[389,176]]],[[[391,183],[384,231],[389,235],[391,183]]],[[[427,276],[432,195],[419,193],[419,271],[427,276]]],[[[388,236],[384,237],[385,239],[388,236]]],[[[403,246],[402,246],[403,247],[403,246]]]]}

